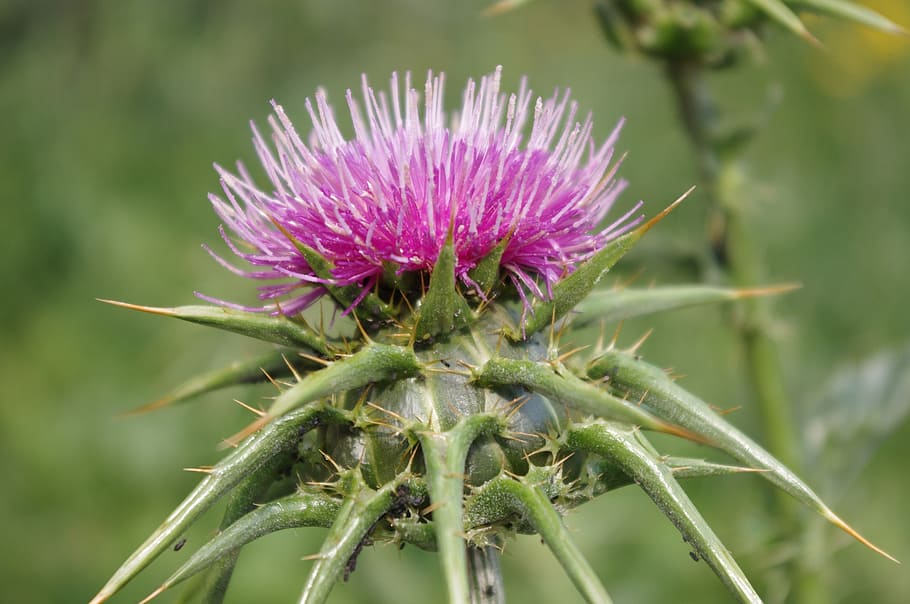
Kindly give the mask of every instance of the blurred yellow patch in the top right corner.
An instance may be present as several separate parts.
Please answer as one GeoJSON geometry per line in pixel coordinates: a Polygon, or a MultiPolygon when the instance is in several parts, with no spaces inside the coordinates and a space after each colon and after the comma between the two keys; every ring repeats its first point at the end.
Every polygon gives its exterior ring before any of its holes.
{"type": "MultiPolygon", "coordinates": [[[[862,4],[910,27],[910,3],[906,0],[863,0],[862,4]]],[[[910,63],[910,36],[824,17],[819,19],[819,26],[827,30],[820,36],[825,48],[809,53],[807,69],[832,96],[860,94],[883,74],[910,63]]]]}

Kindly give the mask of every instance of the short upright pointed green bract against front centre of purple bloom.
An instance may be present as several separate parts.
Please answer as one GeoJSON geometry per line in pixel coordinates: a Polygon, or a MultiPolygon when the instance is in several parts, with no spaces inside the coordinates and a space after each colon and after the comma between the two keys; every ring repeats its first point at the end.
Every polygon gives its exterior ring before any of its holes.
{"type": "Polygon", "coordinates": [[[439,334],[449,334],[456,325],[467,320],[470,312],[455,287],[455,243],[449,231],[445,245],[439,251],[430,286],[420,304],[417,324],[414,326],[417,342],[439,334]]]}

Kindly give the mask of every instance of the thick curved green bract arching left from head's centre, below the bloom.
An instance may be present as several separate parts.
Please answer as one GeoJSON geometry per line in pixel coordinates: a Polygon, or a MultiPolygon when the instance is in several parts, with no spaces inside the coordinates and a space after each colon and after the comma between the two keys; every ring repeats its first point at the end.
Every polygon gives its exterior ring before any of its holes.
{"type": "Polygon", "coordinates": [[[307,374],[282,392],[262,417],[228,439],[228,444],[240,442],[275,418],[307,403],[389,378],[402,379],[419,369],[410,348],[369,342],[354,354],[307,374]]]}

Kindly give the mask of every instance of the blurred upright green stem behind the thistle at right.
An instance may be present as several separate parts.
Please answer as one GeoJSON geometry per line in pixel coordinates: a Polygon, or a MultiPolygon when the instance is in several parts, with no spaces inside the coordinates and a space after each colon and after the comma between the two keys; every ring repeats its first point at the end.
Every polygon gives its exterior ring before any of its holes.
{"type": "MultiPolygon", "coordinates": [[[[695,151],[703,193],[708,199],[707,239],[710,254],[703,273],[733,285],[754,287],[766,278],[763,261],[746,224],[746,187],[739,165],[740,153],[719,152],[720,112],[708,88],[705,69],[697,63],[671,61],[667,77],[673,88],[680,119],[695,151]]],[[[786,466],[800,472],[793,416],[784,388],[777,347],[770,336],[767,302],[762,297],[743,300],[731,326],[739,336],[745,373],[759,414],[768,450],[786,466]]],[[[794,501],[776,491],[774,518],[781,535],[800,530],[794,501]]],[[[817,545],[817,539],[812,540],[817,545]]],[[[825,601],[819,569],[793,563],[795,601],[825,601]],[[802,593],[805,592],[805,593],[802,593]]]]}

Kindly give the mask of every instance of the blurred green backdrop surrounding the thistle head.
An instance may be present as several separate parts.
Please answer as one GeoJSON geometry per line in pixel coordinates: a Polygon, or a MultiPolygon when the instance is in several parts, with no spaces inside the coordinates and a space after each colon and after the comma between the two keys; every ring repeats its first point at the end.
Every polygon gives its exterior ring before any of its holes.
{"type": "MultiPolygon", "coordinates": [[[[366,73],[448,76],[449,106],[465,79],[502,64],[509,88],[526,74],[542,94],[569,86],[595,112],[597,136],[628,120],[620,148],[631,181],[623,203],[653,213],[696,180],[660,70],[603,42],[586,0],[539,0],[481,18],[488,0],[281,2],[7,0],[0,3],[0,585],[7,602],[84,602],[195,483],[180,468],[215,462],[215,445],[246,421],[231,402],[267,390],[212,395],[184,407],[117,418],[195,372],[252,356],[256,344],[100,304],[194,303],[194,290],[251,301],[252,287],[218,267],[206,201],[211,163],[253,163],[249,119],[278,99],[306,130],[304,99],[323,86],[336,103],[366,73]]],[[[880,9],[900,20],[903,0],[880,9]]],[[[908,24],[907,19],[903,21],[908,24]]],[[[714,81],[747,118],[782,90],[751,149],[750,218],[768,281],[803,288],[775,304],[785,374],[797,408],[832,374],[910,336],[910,52],[906,40],[812,21],[826,49],[772,35],[763,65],[714,81]]],[[[344,111],[338,111],[343,116],[344,111]]],[[[342,120],[343,121],[343,120],[342,120]]],[[[683,275],[649,250],[699,245],[696,193],[649,235],[639,280],[683,275]],[[650,246],[650,247],[649,247],[650,246]]],[[[626,328],[734,421],[757,434],[739,378],[739,351],[718,309],[681,311],[626,328]]],[[[868,404],[875,412],[875,401],[868,404]]],[[[910,428],[882,439],[835,508],[873,541],[910,560],[910,428]]],[[[839,476],[808,476],[812,484],[839,476]]],[[[768,490],[754,477],[689,483],[693,499],[762,585],[768,490]]],[[[214,529],[202,522],[116,600],[147,594],[214,529]]],[[[634,489],[568,519],[618,602],[724,602],[704,564],[634,489]]],[[[832,593],[844,602],[906,602],[901,567],[825,528],[832,593]]],[[[318,530],[279,534],[241,557],[233,602],[294,601],[318,530]]],[[[774,552],[771,552],[773,554],[774,552]]],[[[514,602],[580,601],[539,540],[504,556],[514,602]]],[[[333,601],[433,602],[432,555],[371,548],[333,601]]],[[[163,601],[171,601],[167,597],[163,601]]]]}

